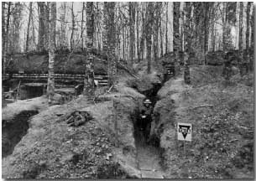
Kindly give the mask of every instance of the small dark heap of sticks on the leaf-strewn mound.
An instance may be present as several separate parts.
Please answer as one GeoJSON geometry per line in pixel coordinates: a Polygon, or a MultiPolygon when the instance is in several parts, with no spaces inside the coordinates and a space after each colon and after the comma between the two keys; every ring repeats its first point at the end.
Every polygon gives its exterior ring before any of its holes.
{"type": "Polygon", "coordinates": [[[91,119],[92,116],[86,111],[74,111],[70,116],[67,116],[66,123],[69,127],[80,127],[91,119]]]}

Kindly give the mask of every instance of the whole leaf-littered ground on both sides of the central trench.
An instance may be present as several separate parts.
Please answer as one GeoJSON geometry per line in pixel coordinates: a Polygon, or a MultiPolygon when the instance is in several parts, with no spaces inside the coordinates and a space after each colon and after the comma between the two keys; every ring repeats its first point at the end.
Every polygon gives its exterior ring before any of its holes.
{"type": "Polygon", "coordinates": [[[137,69],[138,80],[120,75],[108,93],[97,90],[95,102],[80,96],[48,107],[43,96],[4,107],[6,121],[39,112],[27,118],[26,134],[3,158],[3,178],[253,178],[253,73],[227,82],[220,66],[191,66],[191,85],[182,73],[165,82],[154,105],[155,147],[135,132],[134,122],[161,70],[145,75],[145,65],[137,69]],[[69,126],[76,111],[91,119],[69,126]],[[185,153],[177,122],[193,125],[185,153]]]}

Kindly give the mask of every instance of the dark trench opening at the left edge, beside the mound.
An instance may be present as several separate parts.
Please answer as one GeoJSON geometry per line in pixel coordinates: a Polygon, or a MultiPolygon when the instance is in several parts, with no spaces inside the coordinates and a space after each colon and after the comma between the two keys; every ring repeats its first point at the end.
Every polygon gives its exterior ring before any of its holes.
{"type": "Polygon", "coordinates": [[[39,111],[22,111],[11,121],[2,121],[2,158],[13,153],[14,147],[27,134],[29,118],[39,111]]]}

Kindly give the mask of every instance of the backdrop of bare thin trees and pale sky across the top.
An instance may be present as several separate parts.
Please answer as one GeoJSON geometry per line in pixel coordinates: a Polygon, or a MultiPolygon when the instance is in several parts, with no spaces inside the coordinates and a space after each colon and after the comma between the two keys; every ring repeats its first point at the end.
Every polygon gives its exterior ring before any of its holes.
{"type": "MultiPolygon", "coordinates": [[[[152,58],[177,49],[185,41],[200,61],[208,51],[253,46],[253,3],[93,3],[93,47],[102,50],[107,23],[118,59],[152,58]],[[107,13],[113,18],[107,22],[107,13]],[[187,39],[188,38],[190,39],[187,39]],[[150,47],[147,47],[149,42],[150,47]]],[[[55,49],[86,49],[86,3],[56,3],[55,49]]],[[[50,3],[2,3],[3,53],[48,49],[50,3]]],[[[106,41],[105,41],[106,42],[106,41]]],[[[4,54],[3,54],[4,56],[4,54]]]]}

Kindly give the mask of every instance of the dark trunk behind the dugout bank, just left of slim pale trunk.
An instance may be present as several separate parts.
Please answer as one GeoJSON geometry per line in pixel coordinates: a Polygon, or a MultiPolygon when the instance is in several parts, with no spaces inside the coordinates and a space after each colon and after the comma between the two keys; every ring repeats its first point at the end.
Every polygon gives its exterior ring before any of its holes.
{"type": "Polygon", "coordinates": [[[38,2],[39,8],[39,38],[38,51],[44,51],[44,2],[38,2]]]}

